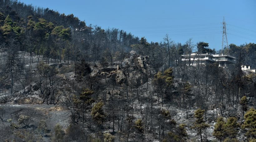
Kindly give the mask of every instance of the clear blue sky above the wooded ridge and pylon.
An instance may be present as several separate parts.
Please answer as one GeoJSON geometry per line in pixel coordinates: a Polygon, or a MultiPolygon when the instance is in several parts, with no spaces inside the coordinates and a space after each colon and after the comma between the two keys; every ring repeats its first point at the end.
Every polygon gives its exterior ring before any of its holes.
{"type": "Polygon", "coordinates": [[[118,28],[160,42],[165,34],[176,43],[193,38],[221,49],[223,16],[228,43],[256,43],[255,0],[21,0],[26,4],[73,13],[86,25],[118,28]]]}

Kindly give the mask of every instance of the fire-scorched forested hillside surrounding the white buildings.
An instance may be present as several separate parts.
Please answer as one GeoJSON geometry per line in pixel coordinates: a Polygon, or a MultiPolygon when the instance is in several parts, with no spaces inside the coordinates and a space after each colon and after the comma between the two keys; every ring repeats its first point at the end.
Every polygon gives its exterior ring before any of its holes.
{"type": "Polygon", "coordinates": [[[148,42],[0,0],[0,140],[255,142],[256,44],[148,42]],[[190,66],[183,54],[236,63],[190,66]]]}

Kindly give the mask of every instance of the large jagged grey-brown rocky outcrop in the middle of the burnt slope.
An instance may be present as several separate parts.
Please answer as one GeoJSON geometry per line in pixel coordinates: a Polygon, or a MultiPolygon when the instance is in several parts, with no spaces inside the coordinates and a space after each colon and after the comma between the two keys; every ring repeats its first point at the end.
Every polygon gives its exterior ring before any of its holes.
{"type": "Polygon", "coordinates": [[[105,69],[93,68],[91,76],[96,74],[106,75],[106,78],[115,76],[118,84],[124,84],[128,80],[129,84],[142,85],[147,82],[148,76],[154,73],[152,67],[150,68],[147,64],[148,58],[148,56],[138,55],[135,51],[130,51],[130,57],[123,61],[113,62],[105,69]]]}

